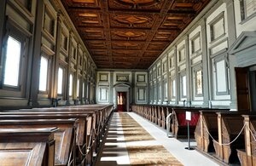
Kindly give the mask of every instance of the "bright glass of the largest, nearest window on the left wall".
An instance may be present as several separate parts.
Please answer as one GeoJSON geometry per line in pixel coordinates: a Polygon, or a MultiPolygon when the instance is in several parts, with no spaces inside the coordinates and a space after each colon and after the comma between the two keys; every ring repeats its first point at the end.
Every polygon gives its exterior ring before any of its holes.
{"type": "Polygon", "coordinates": [[[20,75],[20,45],[14,37],[8,37],[3,84],[17,87],[20,75]]]}

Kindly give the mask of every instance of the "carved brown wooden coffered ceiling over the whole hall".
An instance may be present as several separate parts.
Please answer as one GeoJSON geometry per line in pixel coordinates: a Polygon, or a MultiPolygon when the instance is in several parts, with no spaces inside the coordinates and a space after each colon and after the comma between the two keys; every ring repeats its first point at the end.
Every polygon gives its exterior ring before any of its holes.
{"type": "Polygon", "coordinates": [[[148,69],[210,0],[61,0],[98,68],[148,69]]]}

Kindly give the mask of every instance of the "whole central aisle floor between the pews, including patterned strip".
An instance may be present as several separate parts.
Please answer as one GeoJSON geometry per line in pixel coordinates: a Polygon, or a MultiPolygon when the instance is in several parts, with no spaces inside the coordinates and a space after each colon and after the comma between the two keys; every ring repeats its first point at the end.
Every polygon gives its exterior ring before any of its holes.
{"type": "Polygon", "coordinates": [[[185,150],[187,142],[167,138],[162,129],[134,112],[114,112],[103,141],[96,166],[147,165],[154,159],[167,165],[218,165],[199,152],[185,150]]]}

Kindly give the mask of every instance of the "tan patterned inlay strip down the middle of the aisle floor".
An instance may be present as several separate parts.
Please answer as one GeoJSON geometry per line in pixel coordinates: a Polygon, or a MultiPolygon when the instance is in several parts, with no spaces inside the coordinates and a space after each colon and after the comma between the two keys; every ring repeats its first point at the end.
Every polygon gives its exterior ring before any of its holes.
{"type": "Polygon", "coordinates": [[[119,113],[119,117],[127,141],[126,149],[131,165],[183,165],[164,146],[152,146],[149,142],[148,146],[131,145],[131,141],[154,140],[154,138],[127,113],[119,113]]]}

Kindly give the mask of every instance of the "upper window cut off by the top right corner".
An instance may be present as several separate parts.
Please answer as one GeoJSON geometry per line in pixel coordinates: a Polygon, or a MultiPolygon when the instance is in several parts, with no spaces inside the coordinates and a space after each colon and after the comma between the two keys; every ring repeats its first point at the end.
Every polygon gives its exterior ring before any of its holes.
{"type": "Polygon", "coordinates": [[[241,0],[241,20],[256,13],[256,0],[241,0]]]}

